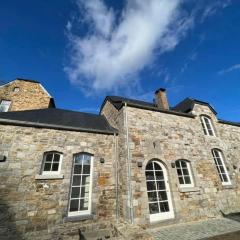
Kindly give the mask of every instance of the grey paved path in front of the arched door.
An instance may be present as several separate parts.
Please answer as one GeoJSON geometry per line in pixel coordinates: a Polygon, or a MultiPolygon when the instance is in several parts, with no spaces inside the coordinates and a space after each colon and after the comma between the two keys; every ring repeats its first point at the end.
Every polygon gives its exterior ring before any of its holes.
{"type": "MultiPolygon", "coordinates": [[[[201,222],[172,225],[150,230],[156,240],[199,240],[209,239],[214,236],[232,233],[236,240],[240,240],[240,221],[217,218],[201,222]]],[[[230,235],[231,236],[231,235],[230,235]]],[[[224,239],[224,238],[213,238],[224,239]]]]}

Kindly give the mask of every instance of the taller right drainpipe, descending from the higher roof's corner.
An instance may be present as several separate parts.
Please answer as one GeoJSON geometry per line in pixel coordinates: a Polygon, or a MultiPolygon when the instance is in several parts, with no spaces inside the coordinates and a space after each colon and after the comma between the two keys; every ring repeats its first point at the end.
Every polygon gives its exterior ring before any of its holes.
{"type": "Polygon", "coordinates": [[[128,182],[128,207],[130,222],[133,224],[133,200],[132,200],[132,184],[131,184],[131,158],[130,158],[130,147],[129,147],[129,130],[128,130],[128,112],[127,112],[127,103],[124,103],[124,113],[125,113],[125,128],[126,128],[126,147],[127,147],[127,182],[128,182]]]}

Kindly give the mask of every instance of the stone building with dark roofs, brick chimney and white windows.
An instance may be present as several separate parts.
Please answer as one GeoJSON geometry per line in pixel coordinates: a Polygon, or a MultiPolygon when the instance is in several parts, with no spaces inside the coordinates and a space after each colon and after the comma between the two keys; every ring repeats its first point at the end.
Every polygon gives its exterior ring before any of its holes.
{"type": "Polygon", "coordinates": [[[240,211],[240,123],[210,104],[170,107],[159,89],[154,103],[107,96],[94,115],[43,92],[0,113],[1,239],[151,239],[144,229],[240,211]]]}

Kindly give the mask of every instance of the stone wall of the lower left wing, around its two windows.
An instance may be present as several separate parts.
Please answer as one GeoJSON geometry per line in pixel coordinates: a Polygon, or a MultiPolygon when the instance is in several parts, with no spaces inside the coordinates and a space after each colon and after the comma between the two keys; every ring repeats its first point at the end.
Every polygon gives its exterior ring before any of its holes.
{"type": "Polygon", "coordinates": [[[7,159],[0,162],[0,238],[11,233],[18,239],[61,239],[59,234],[79,228],[106,228],[116,219],[114,149],[112,135],[1,125],[0,155],[7,159]],[[63,153],[64,178],[36,180],[43,153],[52,150],[63,153]],[[66,218],[68,195],[73,155],[79,152],[94,156],[92,219],[72,223],[66,218]]]}

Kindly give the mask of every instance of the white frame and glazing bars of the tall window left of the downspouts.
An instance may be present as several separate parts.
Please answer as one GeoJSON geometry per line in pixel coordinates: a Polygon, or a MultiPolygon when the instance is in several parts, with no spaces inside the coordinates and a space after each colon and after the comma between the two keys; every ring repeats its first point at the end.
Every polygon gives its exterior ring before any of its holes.
{"type": "MultiPolygon", "coordinates": [[[[83,175],[83,168],[81,170],[81,174],[78,174],[78,175],[83,175]]],[[[90,215],[91,212],[92,212],[92,180],[93,178],[93,155],[90,154],[90,153],[78,153],[74,156],[73,158],[73,166],[72,166],[72,174],[71,174],[71,185],[70,185],[70,194],[69,194],[69,204],[68,204],[68,216],[69,217],[73,217],[73,216],[83,216],[83,215],[90,215]],[[70,212],[70,206],[71,206],[71,200],[72,199],[78,199],[80,201],[81,198],[81,192],[79,193],[79,197],[78,198],[72,198],[71,195],[72,195],[72,184],[73,184],[73,177],[74,175],[77,175],[77,174],[74,174],[74,167],[75,167],[75,158],[78,156],[78,155],[88,155],[90,157],[90,177],[89,177],[89,194],[88,194],[88,210],[78,210],[78,211],[71,211],[70,212]]],[[[81,176],[81,181],[80,181],[80,189],[82,187],[82,176],[81,176]]],[[[80,190],[81,191],[81,190],[80,190]]],[[[84,198],[83,198],[84,199],[84,198]]],[[[80,205],[80,204],[79,204],[80,205]]]]}

